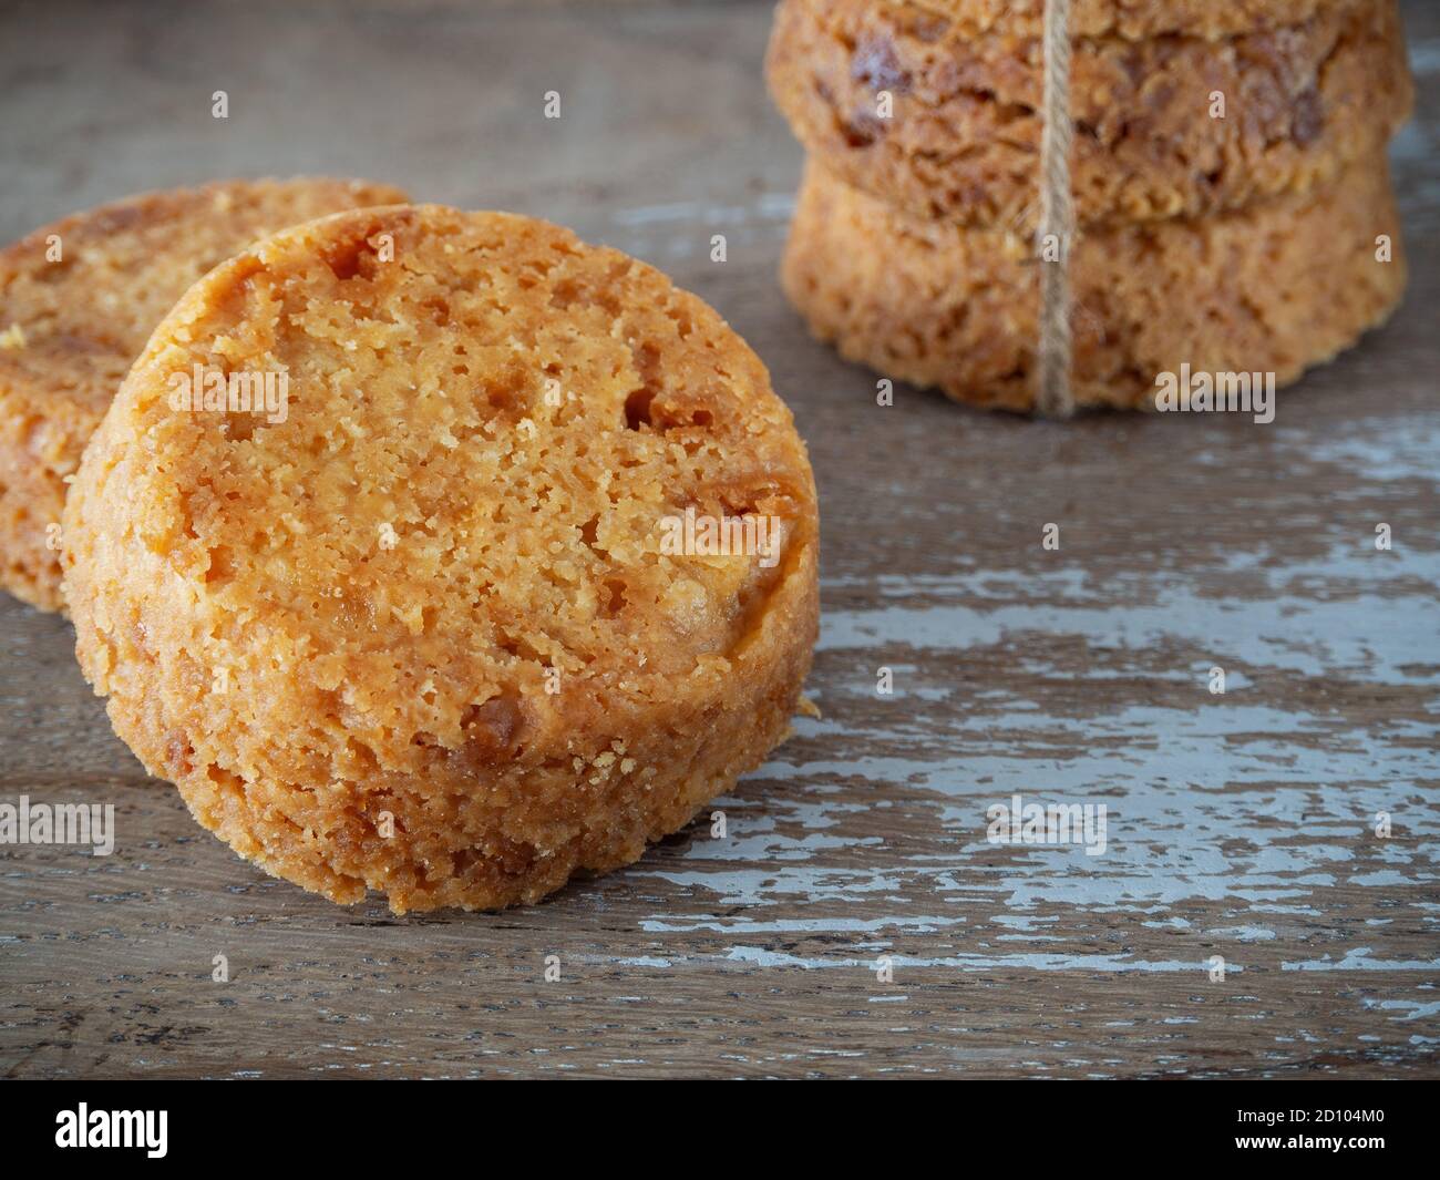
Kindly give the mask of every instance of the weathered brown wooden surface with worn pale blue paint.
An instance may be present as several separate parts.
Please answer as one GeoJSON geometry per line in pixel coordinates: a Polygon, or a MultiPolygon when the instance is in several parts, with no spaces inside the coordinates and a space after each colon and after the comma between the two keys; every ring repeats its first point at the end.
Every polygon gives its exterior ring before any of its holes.
{"type": "Polygon", "coordinates": [[[1269,426],[1053,426],[877,408],[806,339],[773,281],[801,157],[765,4],[7,9],[0,236],[356,173],[570,223],[719,307],[811,444],[825,716],[719,804],[723,840],[697,821],[547,905],[396,921],[199,830],[111,736],[68,625],[6,599],[0,801],[112,801],[120,836],[0,850],[0,1069],[1440,1073],[1440,12],[1408,16],[1400,316],[1269,426]],[[1107,852],[986,843],[1012,792],[1104,801],[1107,852]]]}

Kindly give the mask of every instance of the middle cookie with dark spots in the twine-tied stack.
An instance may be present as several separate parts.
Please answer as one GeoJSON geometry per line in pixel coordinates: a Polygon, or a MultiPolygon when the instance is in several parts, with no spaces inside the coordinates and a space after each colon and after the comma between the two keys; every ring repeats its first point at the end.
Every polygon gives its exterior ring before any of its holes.
{"type": "MultiPolygon", "coordinates": [[[[910,4],[783,0],[768,76],[837,176],[913,216],[1020,229],[1038,209],[1043,58],[1035,37],[972,37],[910,4]]],[[[1080,40],[1070,101],[1076,215],[1094,226],[1329,183],[1390,140],[1413,88],[1395,0],[1344,0],[1221,42],[1080,40]]]]}

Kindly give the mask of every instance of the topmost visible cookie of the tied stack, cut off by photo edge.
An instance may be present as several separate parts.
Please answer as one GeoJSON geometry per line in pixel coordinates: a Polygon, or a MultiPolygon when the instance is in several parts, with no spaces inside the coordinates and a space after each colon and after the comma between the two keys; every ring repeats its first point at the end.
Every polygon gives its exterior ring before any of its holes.
{"type": "MultiPolygon", "coordinates": [[[[909,0],[949,17],[965,36],[1008,33],[1038,37],[1045,0],[909,0]]],[[[1126,40],[1182,33],[1215,40],[1282,24],[1297,24],[1346,0],[1071,0],[1070,35],[1126,40]]]]}

